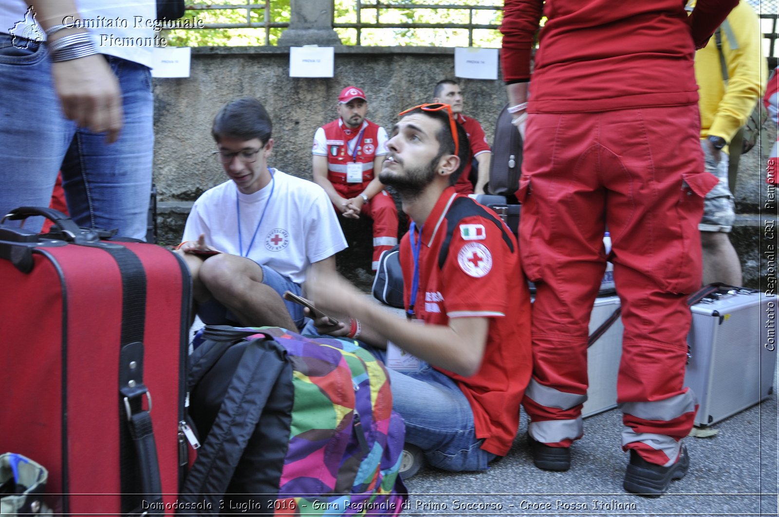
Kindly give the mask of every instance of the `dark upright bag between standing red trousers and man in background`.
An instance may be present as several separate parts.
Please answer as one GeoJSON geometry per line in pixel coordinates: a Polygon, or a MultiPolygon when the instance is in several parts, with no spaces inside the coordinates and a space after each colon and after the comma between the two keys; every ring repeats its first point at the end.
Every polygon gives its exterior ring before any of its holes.
{"type": "Polygon", "coordinates": [[[489,164],[489,192],[513,195],[520,186],[522,174],[522,137],[511,123],[509,104],[503,107],[495,123],[495,142],[489,164]]]}

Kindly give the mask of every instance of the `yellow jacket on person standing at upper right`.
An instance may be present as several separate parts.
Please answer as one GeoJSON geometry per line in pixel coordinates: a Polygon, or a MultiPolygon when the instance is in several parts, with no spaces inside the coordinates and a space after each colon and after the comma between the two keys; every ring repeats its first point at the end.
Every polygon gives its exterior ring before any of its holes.
{"type": "Polygon", "coordinates": [[[715,135],[730,142],[763,96],[768,65],[761,47],[760,19],[748,3],[735,6],[720,26],[720,33],[721,51],[728,67],[727,85],[714,36],[695,55],[700,138],[715,135]]]}

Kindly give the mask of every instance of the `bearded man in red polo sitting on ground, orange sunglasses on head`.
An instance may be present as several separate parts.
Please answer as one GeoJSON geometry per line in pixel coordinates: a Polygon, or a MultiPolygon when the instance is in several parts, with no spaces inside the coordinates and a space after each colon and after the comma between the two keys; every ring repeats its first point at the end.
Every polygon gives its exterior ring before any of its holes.
{"type": "Polygon", "coordinates": [[[388,342],[420,368],[390,370],[406,441],[444,470],[485,470],[506,455],[530,381],[530,294],[516,239],[492,210],[455,191],[470,152],[448,104],[404,111],[379,178],[413,220],[400,242],[407,319],[333,274],[314,273],[317,306],[350,323],[320,332],[357,337],[386,362],[388,342]],[[414,325],[424,323],[424,325],[414,325]]]}

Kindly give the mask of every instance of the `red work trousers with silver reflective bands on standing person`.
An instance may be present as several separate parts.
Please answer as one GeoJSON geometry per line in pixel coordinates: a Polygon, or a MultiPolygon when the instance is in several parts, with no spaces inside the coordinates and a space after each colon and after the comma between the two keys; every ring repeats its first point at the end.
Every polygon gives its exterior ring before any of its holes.
{"type": "Polygon", "coordinates": [[[530,114],[518,199],[533,306],[530,434],[567,447],[583,434],[590,311],[611,232],[622,304],[618,403],[622,447],[668,465],[693,426],[683,388],[690,313],[700,287],[698,223],[717,183],[703,172],[696,105],[530,114]]]}

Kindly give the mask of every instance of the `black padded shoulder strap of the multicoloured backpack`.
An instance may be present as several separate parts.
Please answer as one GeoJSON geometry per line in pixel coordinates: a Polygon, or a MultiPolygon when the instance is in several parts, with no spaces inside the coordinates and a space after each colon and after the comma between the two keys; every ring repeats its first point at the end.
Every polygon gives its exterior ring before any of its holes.
{"type": "MultiPolygon", "coordinates": [[[[203,346],[207,346],[206,343],[198,350],[203,346]]],[[[224,500],[224,493],[262,417],[273,387],[284,372],[291,377],[291,365],[284,359],[285,355],[286,350],[272,339],[254,339],[247,344],[217,418],[198,449],[197,459],[178,498],[182,503],[198,503],[190,507],[200,509],[192,512],[179,510],[179,513],[203,515],[208,513],[203,506],[211,508],[210,513],[214,515],[220,512],[219,503],[224,500]],[[208,501],[210,505],[203,505],[203,501],[208,501]]],[[[185,506],[182,505],[182,508],[185,506]]]]}

